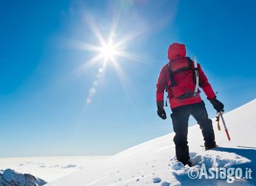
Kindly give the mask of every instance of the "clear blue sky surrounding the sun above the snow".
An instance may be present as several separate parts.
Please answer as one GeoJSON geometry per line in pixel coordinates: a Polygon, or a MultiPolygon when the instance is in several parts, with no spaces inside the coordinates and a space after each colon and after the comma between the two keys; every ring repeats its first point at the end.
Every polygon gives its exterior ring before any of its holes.
{"type": "Polygon", "coordinates": [[[2,1],[0,156],[111,155],[170,133],[155,85],[172,42],[197,55],[226,111],[252,101],[255,8],[252,0],[2,1]],[[89,68],[99,53],[81,46],[100,47],[95,32],[107,40],[114,23],[113,42],[127,39],[129,58],[100,73],[104,60],[89,68]]]}

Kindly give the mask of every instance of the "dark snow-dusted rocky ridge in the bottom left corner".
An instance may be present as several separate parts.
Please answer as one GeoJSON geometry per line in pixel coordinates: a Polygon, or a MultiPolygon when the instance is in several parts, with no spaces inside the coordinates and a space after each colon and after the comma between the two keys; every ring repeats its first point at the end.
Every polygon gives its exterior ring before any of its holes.
{"type": "Polygon", "coordinates": [[[0,185],[6,186],[42,186],[47,184],[31,174],[21,174],[10,168],[0,171],[0,185]]]}

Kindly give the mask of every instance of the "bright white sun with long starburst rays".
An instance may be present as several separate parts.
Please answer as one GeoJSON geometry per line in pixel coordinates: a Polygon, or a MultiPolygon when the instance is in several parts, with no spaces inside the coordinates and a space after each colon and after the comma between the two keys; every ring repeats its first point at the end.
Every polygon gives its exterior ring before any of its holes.
{"type": "Polygon", "coordinates": [[[99,85],[100,80],[102,80],[105,76],[105,71],[108,65],[113,66],[121,85],[129,97],[129,101],[132,103],[132,99],[130,98],[128,89],[126,88],[127,76],[121,68],[121,65],[127,60],[145,64],[145,62],[138,58],[135,53],[130,53],[127,48],[129,48],[129,42],[131,42],[132,39],[135,39],[136,37],[140,36],[140,34],[143,34],[148,30],[148,28],[139,28],[138,30],[127,32],[127,34],[118,35],[118,31],[116,30],[118,20],[119,16],[113,19],[113,23],[111,24],[110,30],[107,34],[102,33],[101,29],[94,21],[94,18],[87,15],[86,23],[88,24],[88,28],[95,36],[98,43],[90,44],[80,40],[72,40],[70,42],[72,48],[95,53],[94,57],[86,60],[85,63],[82,63],[82,65],[78,67],[78,71],[76,71],[76,78],[80,77],[86,71],[89,71],[92,66],[99,65],[95,80],[89,89],[89,96],[86,98],[86,104],[91,104],[92,97],[97,92],[97,86],[99,85]]]}

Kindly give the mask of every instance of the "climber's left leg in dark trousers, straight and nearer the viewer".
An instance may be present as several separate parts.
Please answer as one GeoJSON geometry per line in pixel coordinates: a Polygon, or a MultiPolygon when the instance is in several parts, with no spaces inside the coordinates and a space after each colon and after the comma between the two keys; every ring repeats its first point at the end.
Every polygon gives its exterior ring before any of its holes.
{"type": "Polygon", "coordinates": [[[173,120],[173,131],[176,133],[173,138],[173,142],[176,145],[176,158],[185,165],[189,162],[189,146],[187,145],[189,114],[187,106],[173,109],[173,114],[170,116],[173,120]]]}

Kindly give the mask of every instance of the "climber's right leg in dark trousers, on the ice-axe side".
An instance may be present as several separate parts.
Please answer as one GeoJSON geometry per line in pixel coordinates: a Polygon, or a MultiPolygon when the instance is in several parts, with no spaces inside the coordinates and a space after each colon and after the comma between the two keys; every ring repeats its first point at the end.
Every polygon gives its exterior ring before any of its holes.
{"type": "Polygon", "coordinates": [[[216,147],[214,128],[212,126],[212,121],[208,118],[204,102],[192,104],[191,106],[191,115],[195,117],[195,120],[197,120],[197,123],[200,125],[200,129],[203,133],[203,140],[205,141],[205,147],[207,149],[216,147]]]}

